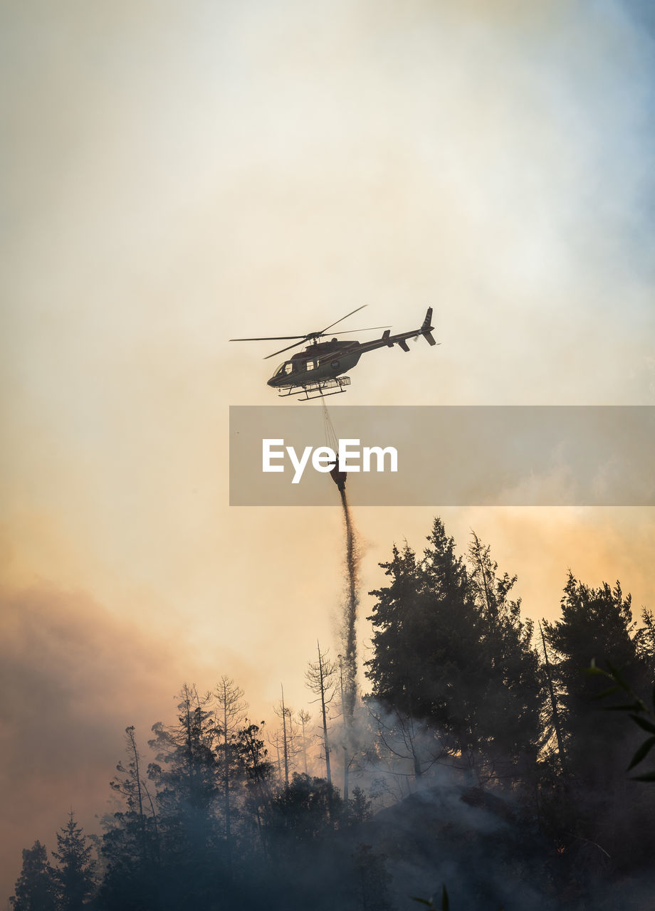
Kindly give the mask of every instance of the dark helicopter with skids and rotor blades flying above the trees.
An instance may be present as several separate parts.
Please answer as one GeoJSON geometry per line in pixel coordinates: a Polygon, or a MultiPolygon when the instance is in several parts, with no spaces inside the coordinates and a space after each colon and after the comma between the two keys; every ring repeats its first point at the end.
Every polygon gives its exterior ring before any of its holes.
{"type": "Polygon", "coordinates": [[[336,322],[331,322],[329,326],[319,332],[306,333],[305,335],[273,335],[266,338],[249,338],[249,339],[230,339],[230,342],[289,342],[293,344],[280,351],[274,351],[267,354],[264,360],[281,354],[285,351],[291,351],[300,345],[309,342],[301,351],[291,355],[290,360],[283,361],[276,367],[274,374],[268,381],[273,389],[280,390],[281,397],[288,395],[304,395],[304,398],[298,401],[307,402],[312,398],[319,398],[325,395],[336,395],[344,393],[345,387],[350,385],[350,377],[343,374],[348,373],[359,362],[363,354],[369,351],[375,351],[376,348],[393,348],[397,344],[404,352],[409,351],[407,339],[417,339],[421,335],[431,344],[438,344],[432,335],[434,326],[432,321],[432,307],[427,308],[425,320],[419,329],[412,329],[406,333],[397,333],[392,335],[389,326],[369,326],[367,329],[347,329],[346,333],[353,332],[370,332],[374,329],[384,329],[381,338],[373,339],[371,342],[348,342],[340,341],[337,338],[329,342],[321,342],[328,329],[332,329],[338,322],[343,322],[353,313],[363,310],[366,306],[364,303],[356,310],[346,313],[336,322]]]}

